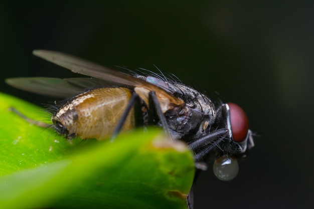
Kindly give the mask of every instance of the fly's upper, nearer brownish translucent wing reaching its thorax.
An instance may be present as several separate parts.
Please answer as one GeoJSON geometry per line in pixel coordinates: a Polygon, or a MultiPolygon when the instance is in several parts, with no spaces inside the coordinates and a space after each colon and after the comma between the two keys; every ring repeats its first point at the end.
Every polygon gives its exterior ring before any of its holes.
{"type": "Polygon", "coordinates": [[[47,50],[34,50],[33,54],[49,62],[67,68],[74,73],[80,73],[116,84],[145,88],[148,91],[155,91],[156,94],[159,95],[159,97],[167,98],[168,101],[173,104],[183,103],[183,100],[174,97],[171,93],[165,91],[164,89],[161,89],[158,86],[150,84],[142,79],[133,77],[125,73],[110,70],[106,67],[91,63],[89,61],[71,55],[47,50]]]}

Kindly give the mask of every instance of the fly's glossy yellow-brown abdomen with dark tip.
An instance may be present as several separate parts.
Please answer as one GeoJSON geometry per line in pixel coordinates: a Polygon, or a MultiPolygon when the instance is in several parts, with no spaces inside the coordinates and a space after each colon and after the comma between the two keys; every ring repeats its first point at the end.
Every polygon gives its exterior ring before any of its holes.
{"type": "MultiPolygon", "coordinates": [[[[132,93],[127,88],[92,89],[68,101],[52,116],[52,120],[60,122],[67,129],[69,136],[103,140],[112,134],[131,95],[132,93]]],[[[132,109],[122,130],[133,127],[132,109]]]]}

